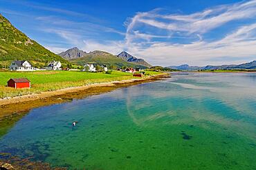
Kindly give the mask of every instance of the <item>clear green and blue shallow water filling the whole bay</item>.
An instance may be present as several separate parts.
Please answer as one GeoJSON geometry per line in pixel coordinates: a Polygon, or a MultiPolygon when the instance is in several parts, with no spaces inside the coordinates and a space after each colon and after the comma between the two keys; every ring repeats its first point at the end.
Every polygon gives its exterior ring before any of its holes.
{"type": "Polygon", "coordinates": [[[256,74],[174,73],[33,109],[0,152],[70,169],[256,169],[256,74]]]}

